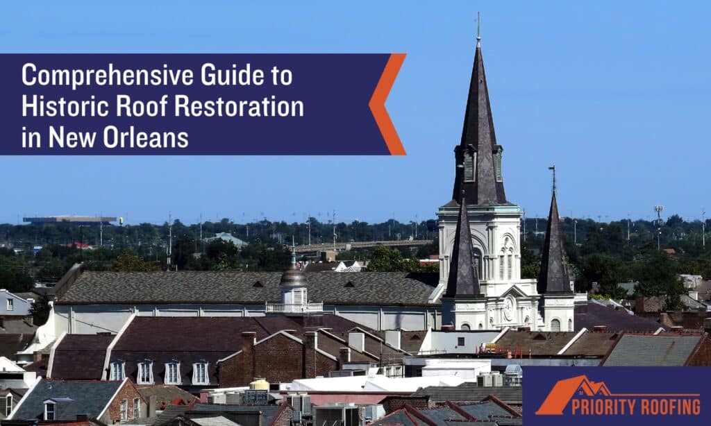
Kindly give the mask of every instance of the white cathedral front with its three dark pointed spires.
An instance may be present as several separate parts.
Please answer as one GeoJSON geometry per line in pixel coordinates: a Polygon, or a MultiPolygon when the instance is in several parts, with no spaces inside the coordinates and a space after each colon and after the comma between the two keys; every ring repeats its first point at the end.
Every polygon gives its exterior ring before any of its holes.
{"type": "Polygon", "coordinates": [[[555,192],[551,205],[555,219],[549,218],[545,247],[550,251],[552,246],[555,253],[542,253],[538,283],[522,279],[523,212],[506,200],[502,155],[493,127],[481,38],[477,37],[464,129],[461,143],[454,148],[452,200],[437,212],[442,324],[456,329],[572,330],[574,295],[562,253],[557,206],[553,211],[555,192]]]}

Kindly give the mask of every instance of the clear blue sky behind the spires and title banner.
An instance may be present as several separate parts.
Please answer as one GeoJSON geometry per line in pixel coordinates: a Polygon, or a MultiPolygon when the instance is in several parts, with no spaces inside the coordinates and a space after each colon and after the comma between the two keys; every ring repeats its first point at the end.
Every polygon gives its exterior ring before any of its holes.
{"type": "Polygon", "coordinates": [[[407,53],[387,102],[407,156],[0,157],[0,222],[434,217],[451,197],[476,11],[510,201],[545,216],[555,164],[566,216],[711,212],[706,1],[7,1],[3,53],[407,53]]]}

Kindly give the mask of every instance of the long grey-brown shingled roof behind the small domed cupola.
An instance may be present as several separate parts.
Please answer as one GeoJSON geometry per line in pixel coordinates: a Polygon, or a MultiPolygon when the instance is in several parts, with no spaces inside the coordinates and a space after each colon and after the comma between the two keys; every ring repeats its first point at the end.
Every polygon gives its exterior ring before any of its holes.
{"type": "MultiPolygon", "coordinates": [[[[280,272],[85,271],[58,304],[279,302],[280,272]],[[255,286],[260,281],[261,286],[255,286]]],[[[437,273],[306,273],[309,300],[334,305],[427,305],[437,273]],[[346,287],[351,281],[353,286],[346,287]]],[[[431,304],[430,304],[431,305],[431,304]]]]}

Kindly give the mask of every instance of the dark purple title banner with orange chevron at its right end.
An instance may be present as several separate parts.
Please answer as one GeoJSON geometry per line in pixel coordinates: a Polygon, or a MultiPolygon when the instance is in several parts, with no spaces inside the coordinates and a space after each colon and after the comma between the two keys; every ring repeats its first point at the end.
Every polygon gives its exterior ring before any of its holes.
{"type": "Polygon", "coordinates": [[[5,54],[0,155],[405,153],[404,55],[5,54]]]}

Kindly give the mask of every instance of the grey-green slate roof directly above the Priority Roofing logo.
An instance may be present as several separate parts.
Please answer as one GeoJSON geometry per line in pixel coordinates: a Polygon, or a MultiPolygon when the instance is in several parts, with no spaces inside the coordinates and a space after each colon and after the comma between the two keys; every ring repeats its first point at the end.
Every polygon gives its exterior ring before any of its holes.
{"type": "Polygon", "coordinates": [[[688,334],[624,334],[602,365],[683,366],[702,338],[688,334]]]}

